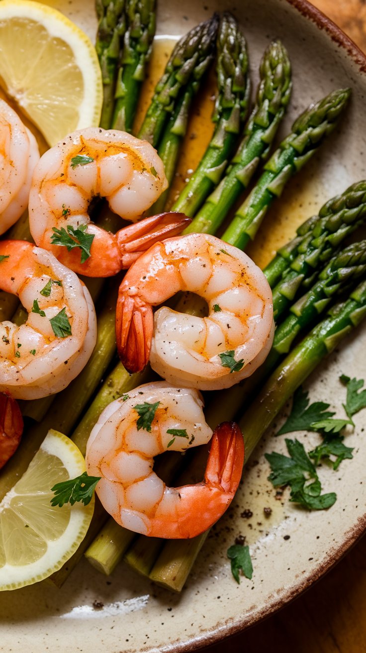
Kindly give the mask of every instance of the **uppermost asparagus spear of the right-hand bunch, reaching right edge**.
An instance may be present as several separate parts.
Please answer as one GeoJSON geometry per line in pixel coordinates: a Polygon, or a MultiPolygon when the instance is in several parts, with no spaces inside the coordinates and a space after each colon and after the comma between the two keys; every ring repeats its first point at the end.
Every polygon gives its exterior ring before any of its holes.
{"type": "MultiPolygon", "coordinates": [[[[303,255],[304,261],[318,261],[319,239],[327,242],[330,251],[337,247],[363,221],[366,214],[366,182],[353,183],[341,195],[328,200],[318,215],[309,217],[296,230],[296,237],[277,251],[276,256],[264,268],[264,274],[271,288],[290,268],[297,256],[303,255]]],[[[327,251],[327,249],[326,249],[327,251]]],[[[295,264],[296,268],[296,264],[295,264]]]]}

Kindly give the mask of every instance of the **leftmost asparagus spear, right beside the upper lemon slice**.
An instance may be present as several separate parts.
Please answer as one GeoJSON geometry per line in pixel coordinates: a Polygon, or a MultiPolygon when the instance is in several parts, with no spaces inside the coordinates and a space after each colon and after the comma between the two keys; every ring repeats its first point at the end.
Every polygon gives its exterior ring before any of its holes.
{"type": "Polygon", "coordinates": [[[100,127],[109,129],[114,110],[114,87],[121,40],[126,31],[125,0],[96,0],[99,18],[95,49],[103,82],[103,106],[100,127]]]}

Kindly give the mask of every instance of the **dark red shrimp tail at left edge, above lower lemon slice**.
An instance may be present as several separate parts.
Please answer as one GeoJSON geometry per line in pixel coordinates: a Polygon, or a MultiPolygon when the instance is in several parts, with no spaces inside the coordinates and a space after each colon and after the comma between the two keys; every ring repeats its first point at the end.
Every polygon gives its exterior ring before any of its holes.
{"type": "Polygon", "coordinates": [[[23,417],[15,399],[0,392],[0,469],[18,449],[23,434],[23,417]]]}

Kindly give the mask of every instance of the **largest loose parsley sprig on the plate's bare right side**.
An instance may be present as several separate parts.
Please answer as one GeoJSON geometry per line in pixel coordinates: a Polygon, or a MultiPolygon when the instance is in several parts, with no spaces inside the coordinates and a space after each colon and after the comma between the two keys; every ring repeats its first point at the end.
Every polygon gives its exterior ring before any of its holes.
{"type": "Polygon", "coordinates": [[[290,501],[299,503],[309,510],[331,507],[337,500],[337,494],[335,492],[320,494],[322,486],[316,469],[301,442],[286,438],[286,447],[290,457],[275,451],[264,454],[271,466],[269,481],[274,487],[289,485],[290,501]]]}

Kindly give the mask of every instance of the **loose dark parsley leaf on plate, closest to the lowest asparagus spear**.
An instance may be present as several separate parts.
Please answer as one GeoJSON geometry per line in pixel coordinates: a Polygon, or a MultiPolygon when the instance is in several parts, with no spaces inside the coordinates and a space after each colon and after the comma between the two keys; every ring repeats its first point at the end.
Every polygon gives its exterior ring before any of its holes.
{"type": "Polygon", "coordinates": [[[327,408],[329,404],[324,402],[314,402],[309,406],[309,392],[305,392],[300,386],[294,394],[291,413],[276,435],[282,436],[292,431],[316,430],[313,428],[314,422],[333,417],[334,413],[327,411],[327,408]]]}

